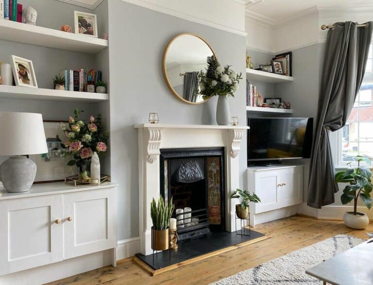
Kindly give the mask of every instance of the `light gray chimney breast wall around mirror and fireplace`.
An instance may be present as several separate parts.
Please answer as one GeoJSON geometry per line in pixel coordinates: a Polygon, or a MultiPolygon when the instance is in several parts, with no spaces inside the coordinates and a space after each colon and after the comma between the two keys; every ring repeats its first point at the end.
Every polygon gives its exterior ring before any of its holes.
{"type": "MultiPolygon", "coordinates": [[[[161,67],[165,47],[177,34],[199,34],[216,51],[221,65],[230,64],[244,74],[245,37],[120,0],[109,1],[109,19],[111,174],[112,180],[119,183],[118,237],[124,239],[139,235],[138,147],[133,125],[147,122],[149,112],[159,113],[161,123],[216,124],[216,98],[200,105],[189,105],[171,94],[161,67]]],[[[244,80],[236,98],[230,98],[229,104],[232,116],[244,123],[244,80]]],[[[246,136],[240,153],[241,186],[246,184],[245,145],[246,136]]]]}

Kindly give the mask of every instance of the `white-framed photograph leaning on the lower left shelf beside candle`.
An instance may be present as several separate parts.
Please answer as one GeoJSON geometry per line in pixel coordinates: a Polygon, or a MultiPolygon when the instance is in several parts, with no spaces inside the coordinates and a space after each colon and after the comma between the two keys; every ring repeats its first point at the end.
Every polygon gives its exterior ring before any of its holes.
{"type": "Polygon", "coordinates": [[[37,88],[33,61],[12,55],[11,62],[16,85],[37,88]]]}

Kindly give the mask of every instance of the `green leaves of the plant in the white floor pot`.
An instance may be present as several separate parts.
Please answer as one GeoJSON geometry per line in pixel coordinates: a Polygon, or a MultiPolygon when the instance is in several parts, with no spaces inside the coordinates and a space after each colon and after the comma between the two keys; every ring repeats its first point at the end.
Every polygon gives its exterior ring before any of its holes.
{"type": "Polygon", "coordinates": [[[354,200],[354,215],[357,213],[357,200],[360,197],[364,205],[370,209],[372,207],[373,199],[371,198],[372,192],[372,181],[371,169],[360,166],[360,162],[364,161],[371,165],[371,161],[363,156],[357,157],[357,168],[351,167],[350,162],[349,168],[346,171],[339,171],[335,175],[336,183],[348,183],[343,189],[343,194],[340,196],[342,204],[348,204],[354,200]]]}

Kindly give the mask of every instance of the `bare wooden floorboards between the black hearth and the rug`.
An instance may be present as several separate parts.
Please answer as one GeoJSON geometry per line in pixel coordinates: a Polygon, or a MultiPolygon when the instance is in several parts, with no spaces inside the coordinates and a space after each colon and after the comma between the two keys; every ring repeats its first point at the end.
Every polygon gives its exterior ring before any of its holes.
{"type": "MultiPolygon", "coordinates": [[[[153,277],[133,260],[128,259],[120,262],[116,268],[99,268],[52,282],[50,285],[205,285],[334,235],[347,234],[367,238],[366,230],[352,230],[344,226],[342,221],[296,216],[264,223],[256,226],[254,230],[270,238],[153,277]]],[[[373,231],[372,223],[367,230],[373,231]]]]}

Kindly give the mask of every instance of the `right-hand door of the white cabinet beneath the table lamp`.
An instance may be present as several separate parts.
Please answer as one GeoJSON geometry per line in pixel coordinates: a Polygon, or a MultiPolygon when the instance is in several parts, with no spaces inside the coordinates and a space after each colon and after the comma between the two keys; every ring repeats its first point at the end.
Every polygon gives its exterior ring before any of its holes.
{"type": "Polygon", "coordinates": [[[117,188],[63,195],[64,259],[117,246],[117,188]]]}

